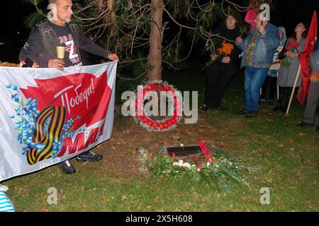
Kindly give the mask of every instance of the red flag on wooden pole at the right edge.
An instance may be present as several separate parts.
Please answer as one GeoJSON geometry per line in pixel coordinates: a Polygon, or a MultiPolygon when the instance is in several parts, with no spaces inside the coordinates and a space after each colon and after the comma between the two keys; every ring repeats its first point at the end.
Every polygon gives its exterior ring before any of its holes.
{"type": "Polygon", "coordinates": [[[310,55],[313,52],[313,48],[315,47],[315,42],[317,41],[317,12],[313,12],[313,20],[311,20],[307,40],[305,47],[303,48],[303,52],[300,54],[300,64],[301,64],[301,73],[303,76],[303,83],[298,90],[297,99],[300,104],[303,106],[305,103],[309,85],[310,85],[310,69],[309,69],[309,62],[310,62],[310,55]]]}

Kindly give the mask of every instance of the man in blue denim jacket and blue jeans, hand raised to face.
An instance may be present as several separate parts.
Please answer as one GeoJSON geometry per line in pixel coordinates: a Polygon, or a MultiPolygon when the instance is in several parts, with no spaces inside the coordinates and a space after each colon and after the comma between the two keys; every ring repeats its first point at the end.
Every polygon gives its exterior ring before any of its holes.
{"type": "Polygon", "coordinates": [[[245,40],[236,38],[237,46],[242,49],[242,64],[245,69],[245,109],[237,112],[245,117],[254,117],[258,112],[259,90],[264,83],[276,48],[279,46],[279,30],[269,21],[262,21],[260,13],[254,21],[256,29],[245,40]]]}

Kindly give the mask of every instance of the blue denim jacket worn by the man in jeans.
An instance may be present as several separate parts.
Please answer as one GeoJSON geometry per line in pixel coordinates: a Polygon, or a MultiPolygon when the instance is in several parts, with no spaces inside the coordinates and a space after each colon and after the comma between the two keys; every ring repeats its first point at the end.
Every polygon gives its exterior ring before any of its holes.
{"type": "MultiPolygon", "coordinates": [[[[252,36],[258,32],[257,29],[252,30],[250,34],[245,37],[244,40],[242,40],[242,43],[237,44],[237,46],[242,49],[244,52],[242,56],[242,64],[240,65],[241,68],[247,66],[245,65],[245,50],[248,47],[248,44],[250,44],[250,41],[252,40],[252,36]]],[[[279,30],[276,28],[276,26],[269,23],[266,26],[266,34],[258,34],[257,36],[257,42],[254,47],[254,54],[252,58],[252,66],[261,66],[261,65],[272,65],[272,60],[274,57],[274,53],[276,48],[279,46],[279,30]]]]}

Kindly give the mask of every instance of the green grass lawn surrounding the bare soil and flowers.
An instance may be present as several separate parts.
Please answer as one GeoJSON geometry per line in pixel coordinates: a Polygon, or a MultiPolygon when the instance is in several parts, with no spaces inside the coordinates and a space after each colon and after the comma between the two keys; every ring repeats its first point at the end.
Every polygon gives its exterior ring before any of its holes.
{"type": "MultiPolygon", "coordinates": [[[[201,65],[191,66],[181,73],[166,73],[164,79],[179,90],[198,90],[201,104],[203,74],[196,71],[201,65]]],[[[243,106],[242,87],[242,73],[237,73],[223,102],[228,112],[200,111],[199,119],[214,129],[206,136],[225,152],[262,169],[245,175],[251,189],[237,184],[229,193],[205,184],[186,189],[178,181],[118,176],[108,170],[108,162],[96,162],[85,167],[75,163],[77,174],[71,176],[50,167],[11,179],[4,183],[10,188],[7,194],[18,211],[318,211],[319,134],[314,128],[296,127],[303,115],[296,101],[290,117],[272,112],[266,104],[254,119],[235,115],[243,106]],[[57,205],[47,204],[50,187],[57,188],[57,205]],[[262,187],[270,189],[269,205],[259,203],[262,187]]]]}

